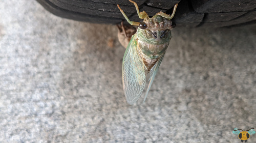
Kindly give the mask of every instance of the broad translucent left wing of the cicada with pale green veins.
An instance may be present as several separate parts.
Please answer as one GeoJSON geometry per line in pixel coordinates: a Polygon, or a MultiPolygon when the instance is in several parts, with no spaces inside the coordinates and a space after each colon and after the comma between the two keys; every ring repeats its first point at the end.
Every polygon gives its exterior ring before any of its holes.
{"type": "Polygon", "coordinates": [[[123,90],[129,104],[135,103],[145,87],[146,69],[137,50],[137,41],[132,37],[123,56],[123,90]]]}

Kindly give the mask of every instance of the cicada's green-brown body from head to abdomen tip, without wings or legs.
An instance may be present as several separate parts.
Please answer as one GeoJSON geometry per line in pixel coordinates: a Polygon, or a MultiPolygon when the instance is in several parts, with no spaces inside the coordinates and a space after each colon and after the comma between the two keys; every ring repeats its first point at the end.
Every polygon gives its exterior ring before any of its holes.
{"type": "Polygon", "coordinates": [[[147,72],[154,67],[160,56],[162,56],[172,38],[170,30],[175,26],[174,22],[160,15],[143,22],[146,28],[139,27],[137,31],[137,43],[139,55],[147,68],[147,72]]]}

